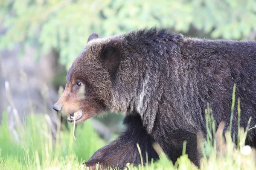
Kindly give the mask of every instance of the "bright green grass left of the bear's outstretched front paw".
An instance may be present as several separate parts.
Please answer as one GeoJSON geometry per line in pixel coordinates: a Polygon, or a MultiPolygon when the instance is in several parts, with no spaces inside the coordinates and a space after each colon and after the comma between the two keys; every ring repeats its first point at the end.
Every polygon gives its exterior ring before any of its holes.
{"type": "Polygon", "coordinates": [[[73,139],[72,130],[57,129],[56,137],[53,137],[49,127],[43,115],[31,114],[22,127],[15,126],[10,130],[7,114],[3,113],[0,125],[0,170],[81,169],[80,164],[105,145],[90,121],[77,125],[77,140],[73,139]],[[16,133],[18,137],[15,137],[16,133]]]}

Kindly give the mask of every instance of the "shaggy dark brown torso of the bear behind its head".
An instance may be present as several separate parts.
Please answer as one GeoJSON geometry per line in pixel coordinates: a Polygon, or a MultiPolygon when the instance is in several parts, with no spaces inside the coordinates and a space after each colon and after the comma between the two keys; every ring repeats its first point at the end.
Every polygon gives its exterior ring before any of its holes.
{"type": "Polygon", "coordinates": [[[256,42],[201,40],[150,29],[122,35],[122,51],[112,82],[112,99],[119,106],[114,109],[139,113],[148,133],[158,126],[157,117],[172,129],[205,131],[207,102],[216,122],[228,123],[235,83],[241,125],[255,118],[256,42]]]}

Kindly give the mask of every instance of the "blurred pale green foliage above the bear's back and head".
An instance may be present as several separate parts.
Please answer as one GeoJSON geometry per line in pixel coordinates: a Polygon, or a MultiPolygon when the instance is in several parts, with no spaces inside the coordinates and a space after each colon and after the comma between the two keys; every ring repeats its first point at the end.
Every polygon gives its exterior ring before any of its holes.
{"type": "Polygon", "coordinates": [[[87,37],[143,27],[191,26],[211,38],[241,39],[256,28],[255,0],[3,0],[0,21],[7,29],[0,49],[16,42],[35,46],[38,55],[55,48],[69,68],[87,37]]]}

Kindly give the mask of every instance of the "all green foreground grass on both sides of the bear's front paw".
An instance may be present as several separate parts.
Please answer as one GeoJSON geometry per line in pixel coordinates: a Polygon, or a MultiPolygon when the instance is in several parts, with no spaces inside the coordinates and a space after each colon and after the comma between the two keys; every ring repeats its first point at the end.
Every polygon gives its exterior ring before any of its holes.
{"type": "MultiPolygon", "coordinates": [[[[235,90],[235,88],[234,88],[235,90]]],[[[234,99],[235,93],[233,93],[234,99]]],[[[234,102],[234,101],[233,101],[234,102]]],[[[240,120],[240,100],[238,100],[238,117],[240,120]]],[[[233,105],[234,107],[234,105],[233,105]]],[[[233,108],[232,108],[233,110],[233,108]]],[[[234,114],[232,112],[232,114],[234,114]]],[[[232,136],[226,133],[227,141],[222,139],[223,124],[215,127],[212,110],[206,109],[207,139],[198,134],[201,143],[201,169],[203,170],[253,170],[255,168],[255,151],[244,146],[249,127],[239,130],[239,144],[233,144],[232,136]],[[214,133],[217,130],[216,133],[214,133]]],[[[231,119],[232,121],[232,119],[231,119]]],[[[237,126],[240,124],[238,123],[237,126]]],[[[23,124],[10,126],[7,113],[3,113],[0,124],[0,170],[82,170],[81,165],[93,153],[106,143],[93,130],[90,120],[76,126],[76,140],[73,139],[73,126],[64,130],[58,127],[52,135],[52,128],[44,115],[30,114],[23,124]]],[[[185,154],[186,142],[183,144],[183,156],[173,165],[162,153],[160,160],[134,167],[127,165],[129,170],[197,170],[185,154]]],[[[139,151],[138,147],[138,151],[139,151]]]]}

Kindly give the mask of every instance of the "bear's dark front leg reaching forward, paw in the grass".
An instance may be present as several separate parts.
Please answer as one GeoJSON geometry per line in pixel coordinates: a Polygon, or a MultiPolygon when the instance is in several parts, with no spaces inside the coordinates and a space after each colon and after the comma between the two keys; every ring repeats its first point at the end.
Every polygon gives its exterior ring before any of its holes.
{"type": "Polygon", "coordinates": [[[127,125],[126,131],[111,144],[97,150],[85,163],[87,167],[94,170],[96,164],[99,163],[99,168],[119,167],[123,169],[127,163],[141,164],[137,144],[140,146],[144,163],[146,153],[148,153],[149,162],[151,159],[159,159],[152,146],[154,140],[143,127],[140,116],[128,115],[124,119],[124,124],[127,125]]]}

